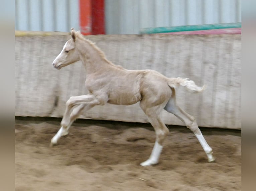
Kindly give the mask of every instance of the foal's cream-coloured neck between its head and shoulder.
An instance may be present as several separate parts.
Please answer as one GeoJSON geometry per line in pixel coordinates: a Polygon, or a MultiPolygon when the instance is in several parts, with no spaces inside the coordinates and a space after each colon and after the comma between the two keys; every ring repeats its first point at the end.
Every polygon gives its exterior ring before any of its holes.
{"type": "Polygon", "coordinates": [[[80,39],[77,43],[77,48],[86,73],[99,72],[99,70],[106,70],[106,68],[110,67],[106,59],[87,40],[80,39]]]}

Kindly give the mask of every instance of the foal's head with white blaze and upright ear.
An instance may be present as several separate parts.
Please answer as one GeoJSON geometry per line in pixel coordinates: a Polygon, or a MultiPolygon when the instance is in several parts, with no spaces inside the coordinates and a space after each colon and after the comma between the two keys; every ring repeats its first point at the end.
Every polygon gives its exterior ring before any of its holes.
{"type": "MultiPolygon", "coordinates": [[[[71,35],[74,35],[73,28],[71,29],[71,35]]],[[[55,58],[52,64],[56,69],[61,69],[62,67],[77,62],[79,60],[79,54],[75,49],[75,38],[73,38],[72,36],[72,38],[65,43],[62,51],[55,58]]]]}

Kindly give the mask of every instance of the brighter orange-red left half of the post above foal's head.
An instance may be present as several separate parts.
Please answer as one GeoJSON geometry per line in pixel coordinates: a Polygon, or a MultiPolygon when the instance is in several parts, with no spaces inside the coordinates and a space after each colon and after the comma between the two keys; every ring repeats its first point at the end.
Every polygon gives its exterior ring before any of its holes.
{"type": "Polygon", "coordinates": [[[80,31],[83,35],[92,34],[91,0],[79,0],[80,31]]]}

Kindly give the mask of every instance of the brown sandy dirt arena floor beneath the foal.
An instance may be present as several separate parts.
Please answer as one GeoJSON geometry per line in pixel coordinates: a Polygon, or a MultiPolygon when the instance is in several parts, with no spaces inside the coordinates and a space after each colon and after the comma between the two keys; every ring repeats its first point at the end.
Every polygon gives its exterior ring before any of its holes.
{"type": "Polygon", "coordinates": [[[241,190],[241,131],[201,128],[216,161],[186,127],[168,126],[159,164],[142,167],[149,124],[81,120],[50,147],[60,120],[15,120],[16,191],[241,190]]]}

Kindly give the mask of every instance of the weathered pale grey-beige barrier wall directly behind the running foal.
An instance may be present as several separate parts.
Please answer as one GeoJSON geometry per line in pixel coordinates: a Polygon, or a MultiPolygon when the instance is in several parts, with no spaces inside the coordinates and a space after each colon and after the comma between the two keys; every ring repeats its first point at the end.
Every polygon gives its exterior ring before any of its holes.
{"type": "MultiPolygon", "coordinates": [[[[80,62],[56,70],[52,61],[70,38],[66,33],[16,33],[16,116],[62,117],[70,96],[87,94],[80,62]]],[[[177,101],[199,126],[241,128],[241,35],[97,35],[107,58],[127,69],[154,69],[167,77],[207,84],[201,94],[181,87],[177,101]]],[[[166,124],[183,125],[163,111],[166,124]]],[[[80,118],[148,122],[138,104],[96,106],[80,118]]]]}

